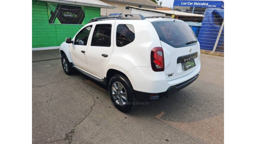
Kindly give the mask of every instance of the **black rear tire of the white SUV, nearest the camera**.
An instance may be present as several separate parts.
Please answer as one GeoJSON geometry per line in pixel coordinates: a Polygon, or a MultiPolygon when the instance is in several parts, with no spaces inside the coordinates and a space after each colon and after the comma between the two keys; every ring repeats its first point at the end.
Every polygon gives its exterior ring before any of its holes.
{"type": "MultiPolygon", "coordinates": [[[[118,87],[119,88],[119,87],[118,87]]],[[[116,89],[117,90],[117,89],[116,89]]],[[[119,90],[119,94],[121,93],[120,92],[121,90],[119,90]]],[[[114,103],[115,107],[122,111],[122,112],[128,112],[134,108],[137,107],[138,105],[138,100],[137,100],[137,97],[135,95],[135,92],[132,88],[132,84],[131,82],[129,81],[129,79],[125,76],[122,76],[122,75],[114,75],[110,80],[109,80],[109,83],[108,83],[108,92],[109,92],[109,95],[110,95],[110,98],[112,100],[112,102],[114,103]],[[126,93],[126,102],[125,104],[123,104],[123,101],[125,101],[125,99],[122,99],[121,102],[119,102],[117,95],[116,94],[113,94],[115,93],[116,91],[112,88],[112,86],[115,86],[115,84],[120,84],[124,87],[124,89],[122,89],[122,92],[126,93]],[[112,91],[113,89],[113,91],[112,91]]],[[[117,92],[118,93],[118,92],[117,92]]],[[[122,95],[122,94],[121,94],[122,95]]],[[[119,95],[120,96],[120,95],[119,95]]]]}

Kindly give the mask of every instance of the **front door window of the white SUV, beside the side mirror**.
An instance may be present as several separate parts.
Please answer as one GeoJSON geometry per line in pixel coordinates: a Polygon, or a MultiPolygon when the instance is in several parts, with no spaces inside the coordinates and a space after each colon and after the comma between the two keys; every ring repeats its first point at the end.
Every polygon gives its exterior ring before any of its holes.
{"type": "Polygon", "coordinates": [[[88,37],[90,35],[90,31],[92,29],[92,26],[85,27],[82,29],[75,38],[76,45],[87,45],[88,37]]]}

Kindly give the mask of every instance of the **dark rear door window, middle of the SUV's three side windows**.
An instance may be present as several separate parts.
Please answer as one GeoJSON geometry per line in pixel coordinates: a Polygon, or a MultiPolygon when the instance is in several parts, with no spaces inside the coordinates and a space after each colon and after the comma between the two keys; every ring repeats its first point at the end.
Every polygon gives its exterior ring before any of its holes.
{"type": "Polygon", "coordinates": [[[95,26],[91,46],[111,45],[111,24],[98,24],[95,26]]]}

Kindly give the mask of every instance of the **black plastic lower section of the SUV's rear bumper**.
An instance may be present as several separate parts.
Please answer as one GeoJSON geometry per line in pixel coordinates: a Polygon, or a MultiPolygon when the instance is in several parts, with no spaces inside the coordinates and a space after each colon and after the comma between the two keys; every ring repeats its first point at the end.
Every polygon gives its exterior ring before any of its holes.
{"type": "Polygon", "coordinates": [[[135,94],[137,96],[137,98],[140,100],[140,101],[149,101],[149,100],[156,100],[156,99],[159,99],[163,96],[167,96],[173,92],[176,92],[176,91],[179,91],[183,88],[185,88],[186,86],[188,86],[189,84],[193,83],[199,76],[199,73],[190,78],[189,80],[185,81],[185,82],[182,82],[180,84],[176,84],[176,85],[173,85],[173,86],[170,86],[166,92],[160,92],[160,93],[147,93],[147,92],[140,92],[140,91],[135,91],[135,94]]]}

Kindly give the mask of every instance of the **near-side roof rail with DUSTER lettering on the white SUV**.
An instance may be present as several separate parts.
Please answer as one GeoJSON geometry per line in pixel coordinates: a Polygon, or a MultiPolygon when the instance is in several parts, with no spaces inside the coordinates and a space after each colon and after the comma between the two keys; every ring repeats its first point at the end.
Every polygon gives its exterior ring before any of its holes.
{"type": "Polygon", "coordinates": [[[145,20],[145,17],[141,14],[132,14],[132,13],[125,14],[125,13],[123,13],[123,14],[119,14],[119,15],[109,15],[109,16],[104,16],[104,17],[93,18],[88,23],[94,22],[94,21],[99,21],[99,20],[107,20],[107,19],[145,20]]]}

